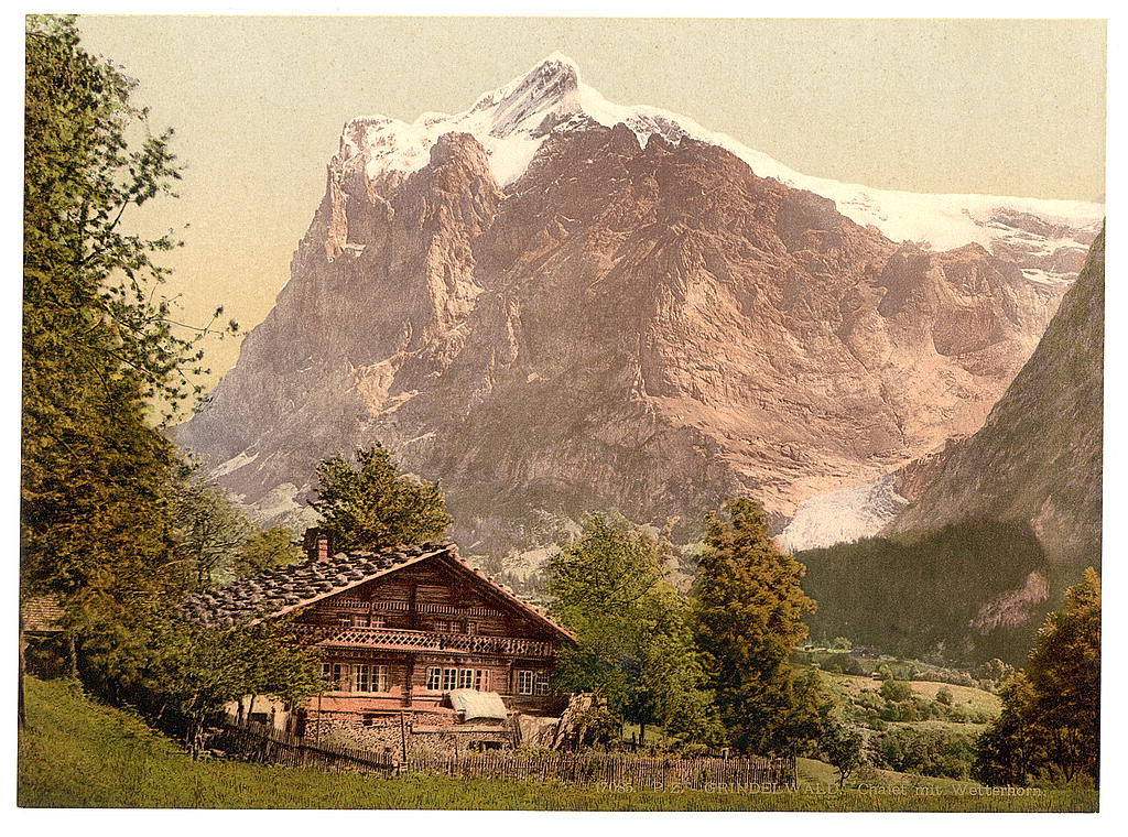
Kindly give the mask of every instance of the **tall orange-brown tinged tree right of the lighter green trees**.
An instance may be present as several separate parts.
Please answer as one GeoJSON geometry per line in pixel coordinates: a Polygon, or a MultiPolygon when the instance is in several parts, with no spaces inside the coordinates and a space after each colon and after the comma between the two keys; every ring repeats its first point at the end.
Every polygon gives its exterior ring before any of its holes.
{"type": "MultiPolygon", "coordinates": [[[[807,635],[814,602],[801,585],[803,566],[782,553],[760,506],[731,500],[707,522],[697,574],[698,644],[733,745],[743,751],[796,751],[813,730],[788,664],[807,635]]],[[[810,703],[817,703],[810,702],[810,703]]]]}

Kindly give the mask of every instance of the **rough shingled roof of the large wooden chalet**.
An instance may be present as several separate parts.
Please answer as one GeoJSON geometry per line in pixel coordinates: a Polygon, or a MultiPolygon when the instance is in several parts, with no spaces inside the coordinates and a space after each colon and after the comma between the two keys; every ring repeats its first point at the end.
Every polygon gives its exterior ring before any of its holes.
{"type": "Polygon", "coordinates": [[[300,610],[321,599],[435,557],[446,558],[453,569],[477,576],[495,594],[523,610],[553,633],[569,640],[575,638],[539,608],[520,599],[508,587],[499,584],[481,570],[472,567],[450,543],[424,544],[379,553],[337,553],[323,561],[311,557],[190,596],[183,609],[188,619],[209,626],[255,624],[300,610]]]}

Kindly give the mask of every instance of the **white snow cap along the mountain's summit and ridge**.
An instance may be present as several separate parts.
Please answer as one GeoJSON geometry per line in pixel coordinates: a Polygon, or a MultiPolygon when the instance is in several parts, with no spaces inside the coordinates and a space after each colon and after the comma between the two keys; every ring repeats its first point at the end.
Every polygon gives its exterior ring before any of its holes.
{"type": "Polygon", "coordinates": [[[386,116],[352,120],[344,126],[333,164],[338,170],[362,166],[370,180],[409,174],[428,164],[431,147],[441,135],[459,131],[482,143],[494,178],[504,187],[525,174],[553,131],[590,124],[589,120],[609,127],[625,124],[641,146],[652,134],[672,143],[690,136],[719,146],[760,177],[829,197],[844,215],[876,227],[895,241],[926,243],[935,249],[979,244],[1022,264],[1028,279],[1037,282],[1072,279],[1104,215],[1100,203],[918,194],[803,175],[686,116],[608,102],[582,83],[576,63],[558,52],[508,85],[483,94],[459,114],[425,113],[411,124],[386,116]]]}

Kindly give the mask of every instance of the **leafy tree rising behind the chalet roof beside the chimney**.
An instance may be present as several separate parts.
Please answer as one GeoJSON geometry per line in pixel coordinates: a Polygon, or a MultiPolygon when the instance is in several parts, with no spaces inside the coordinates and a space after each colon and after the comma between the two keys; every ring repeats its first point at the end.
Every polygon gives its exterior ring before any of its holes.
{"type": "Polygon", "coordinates": [[[450,525],[442,492],[400,474],[382,446],[356,451],[358,467],[334,457],[317,469],[320,488],[310,502],[335,549],[371,549],[424,544],[450,525]]]}

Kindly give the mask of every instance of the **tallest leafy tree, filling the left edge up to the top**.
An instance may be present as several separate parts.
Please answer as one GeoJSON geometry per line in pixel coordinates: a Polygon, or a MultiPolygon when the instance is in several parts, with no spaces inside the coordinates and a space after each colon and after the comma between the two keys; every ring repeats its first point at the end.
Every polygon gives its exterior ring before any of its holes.
{"type": "Polygon", "coordinates": [[[170,131],[130,148],[135,82],[81,47],[72,17],[33,15],[25,83],[20,582],[59,598],[77,638],[187,583],[176,456],[150,420],[199,394],[211,328],[185,332],[159,293],[155,257],[176,243],[123,229],[178,177],[170,131]]]}

